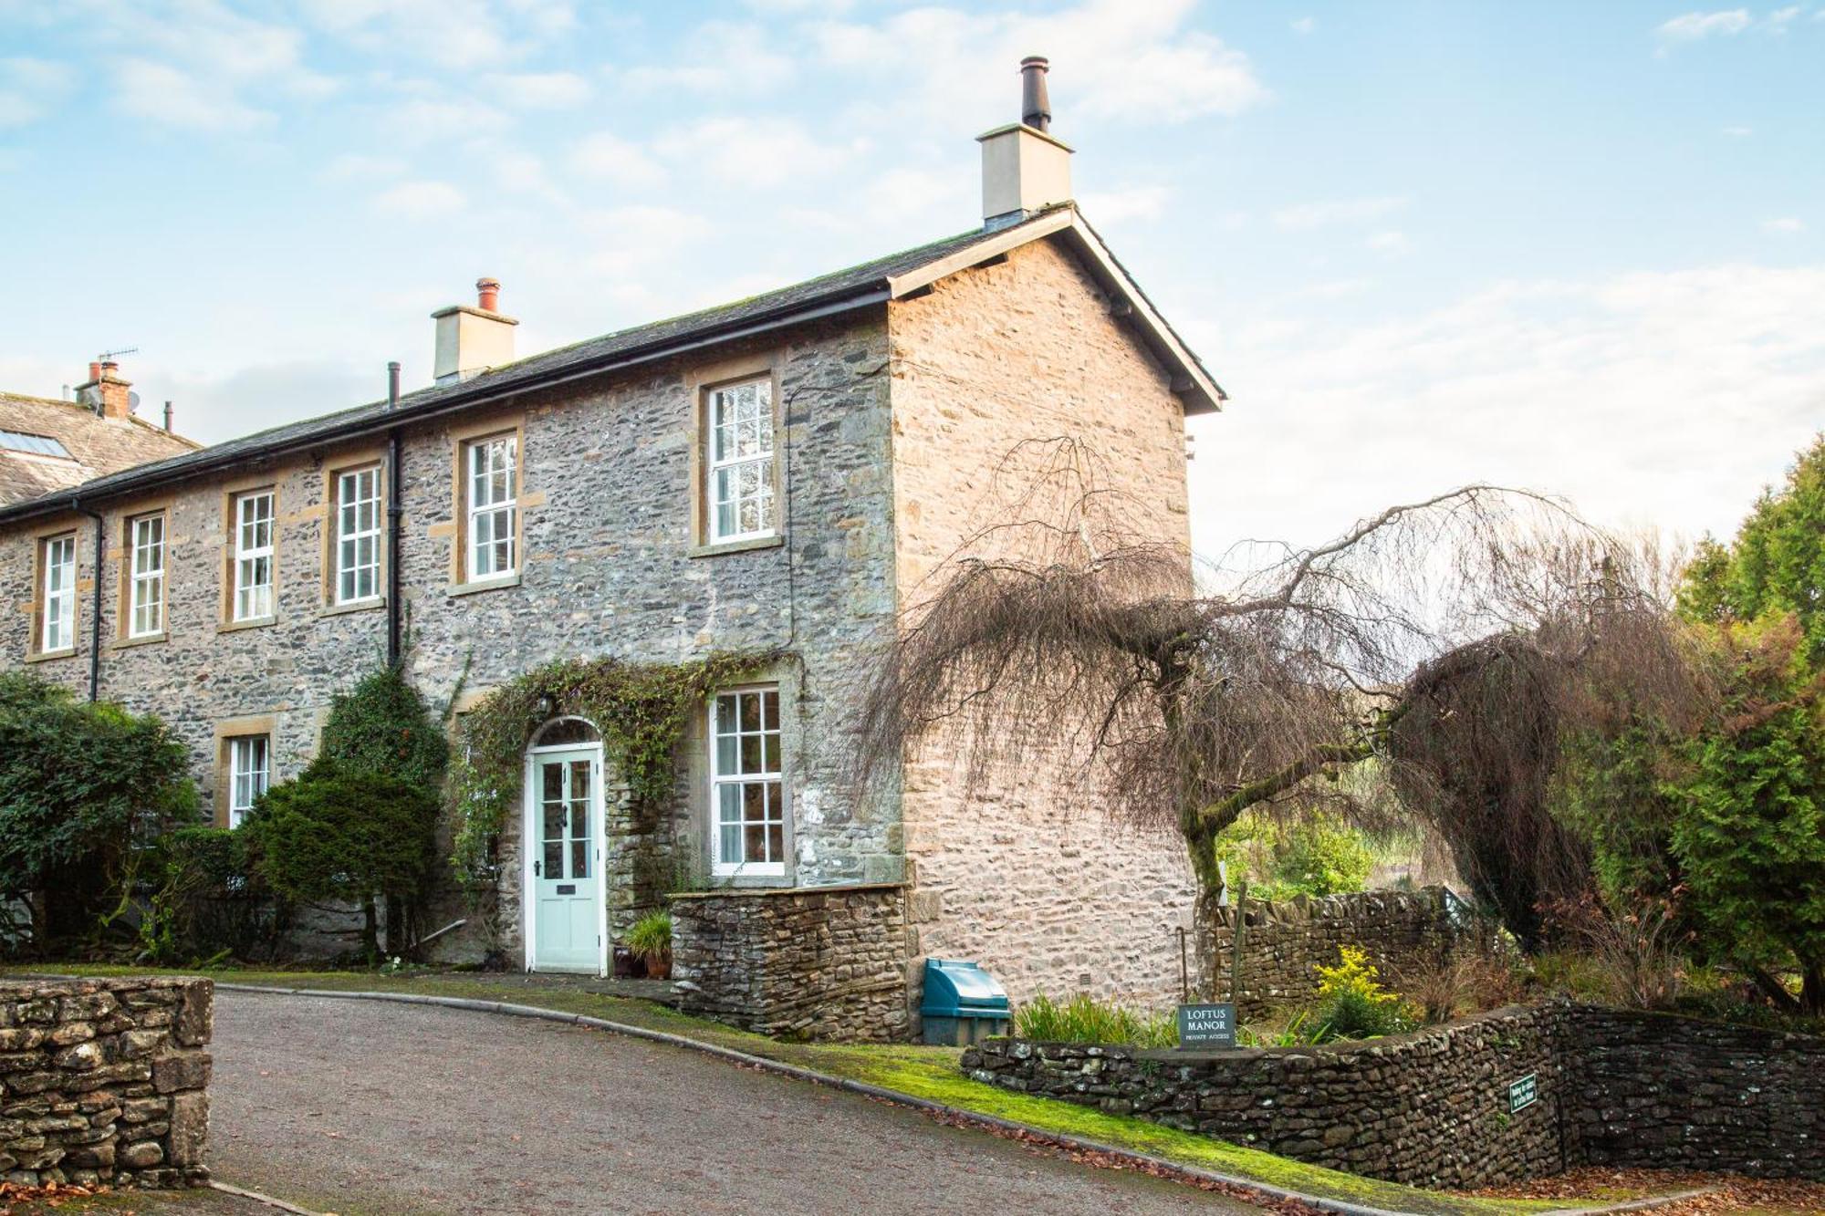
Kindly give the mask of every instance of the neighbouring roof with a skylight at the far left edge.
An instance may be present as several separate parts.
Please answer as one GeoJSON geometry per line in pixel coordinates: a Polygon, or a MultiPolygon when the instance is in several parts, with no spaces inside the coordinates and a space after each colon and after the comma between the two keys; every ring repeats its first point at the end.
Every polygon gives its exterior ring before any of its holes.
{"type": "Polygon", "coordinates": [[[139,418],[100,418],[77,402],[0,393],[0,511],[193,451],[197,444],[139,418]]]}

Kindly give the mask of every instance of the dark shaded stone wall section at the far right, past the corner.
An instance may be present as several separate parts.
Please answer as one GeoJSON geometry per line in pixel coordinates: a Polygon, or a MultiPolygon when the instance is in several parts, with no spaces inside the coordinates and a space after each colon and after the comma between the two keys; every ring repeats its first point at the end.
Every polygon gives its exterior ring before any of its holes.
{"type": "Polygon", "coordinates": [[[1580,1010],[1566,1055],[1588,1165],[1825,1179],[1825,1039],[1580,1010]]]}

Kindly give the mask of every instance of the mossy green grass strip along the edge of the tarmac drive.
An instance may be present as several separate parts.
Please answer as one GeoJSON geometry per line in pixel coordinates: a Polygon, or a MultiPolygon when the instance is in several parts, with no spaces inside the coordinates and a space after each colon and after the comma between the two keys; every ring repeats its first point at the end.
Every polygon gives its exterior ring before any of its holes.
{"type": "MultiPolygon", "coordinates": [[[[60,975],[195,975],[181,970],[111,968],[111,966],[40,966],[4,968],[0,975],[26,971],[60,975]]],[[[821,1074],[847,1077],[885,1090],[909,1094],[925,1101],[944,1103],[958,1110],[1026,1123],[1029,1127],[1066,1136],[1117,1145],[1146,1152],[1177,1165],[1204,1169],[1250,1181],[1263,1181],[1312,1196],[1352,1200],[1371,1207],[1422,1216],[1511,1216],[1575,1207],[1564,1200],[1484,1200],[1453,1196],[1396,1183],[1343,1174],[1301,1161],[1278,1158],[1257,1148],[1228,1145],[1206,1136],[1146,1123],[1126,1116],[1110,1116],[1084,1106],[1073,1106],[1048,1097],[1033,1097],[982,1085],[956,1068],[956,1048],[938,1046],[843,1046],[819,1043],[779,1043],[765,1035],[732,1030],[717,1022],[688,1017],[648,1001],[608,997],[589,991],[540,988],[520,977],[484,977],[464,973],[381,975],[376,971],[259,971],[214,970],[201,971],[224,984],[256,984],[266,988],[308,988],[341,991],[396,991],[433,997],[471,997],[529,1004],[564,1013],[600,1017],[628,1026],[659,1030],[699,1043],[712,1043],[750,1055],[761,1055],[821,1074]]]]}

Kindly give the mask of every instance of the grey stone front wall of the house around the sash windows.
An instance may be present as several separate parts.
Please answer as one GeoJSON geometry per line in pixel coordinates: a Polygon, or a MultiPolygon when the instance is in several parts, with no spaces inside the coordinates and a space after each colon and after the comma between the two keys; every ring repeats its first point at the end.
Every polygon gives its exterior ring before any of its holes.
{"type": "MultiPolygon", "coordinates": [[[[807,323],[766,345],[728,345],[533,393],[496,414],[467,411],[407,427],[402,582],[412,681],[442,707],[458,688],[469,697],[558,657],[783,650],[790,657],[776,676],[787,708],[792,856],[776,882],[900,880],[898,803],[856,805],[841,747],[847,661],[894,613],[887,352],[885,309],[872,309],[807,323]],[[697,385],[756,367],[776,369],[779,385],[783,540],[701,553],[692,526],[697,385]],[[451,588],[454,451],[464,433],[489,422],[522,429],[522,573],[516,584],[462,592],[451,588]]],[[[259,425],[246,420],[248,431],[259,425]]],[[[274,780],[296,776],[316,750],[332,696],[383,661],[385,610],[327,606],[323,584],[328,473],[383,453],[378,438],[299,451],[106,508],[100,694],[164,718],[190,747],[204,792],[223,776],[217,739],[237,725],[270,730],[274,780]],[[224,626],[226,495],[265,486],[277,493],[276,617],[224,626]],[[168,630],[128,643],[119,621],[124,519],[161,506],[170,509],[168,630]]],[[[66,528],[77,535],[78,646],[29,670],[86,690],[97,561],[93,524],[78,515],[0,531],[0,668],[27,661],[33,539],[66,528]]],[[[692,747],[662,838],[701,858],[708,776],[697,738],[692,747]]],[[[518,834],[515,809],[498,942],[515,962],[518,834]]],[[[442,926],[465,911],[451,893],[429,920],[442,926]]],[[[476,924],[440,938],[440,957],[478,959],[476,924]]]]}

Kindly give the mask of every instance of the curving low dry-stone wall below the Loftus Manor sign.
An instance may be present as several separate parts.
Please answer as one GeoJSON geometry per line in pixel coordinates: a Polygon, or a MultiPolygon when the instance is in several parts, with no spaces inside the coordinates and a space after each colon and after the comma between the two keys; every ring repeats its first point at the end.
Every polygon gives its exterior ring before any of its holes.
{"type": "Polygon", "coordinates": [[[1487,1187],[1560,1169],[1557,1019],[1500,1010],[1371,1044],[1221,1054],[991,1039],[964,1070],[1352,1174],[1487,1187]],[[1526,1074],[1538,1101],[1509,1114],[1526,1074]]]}

